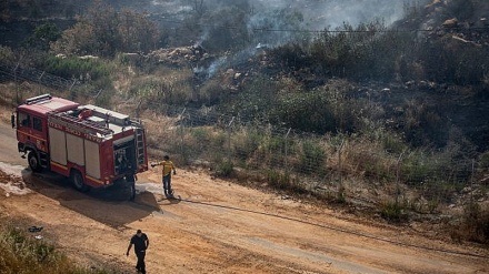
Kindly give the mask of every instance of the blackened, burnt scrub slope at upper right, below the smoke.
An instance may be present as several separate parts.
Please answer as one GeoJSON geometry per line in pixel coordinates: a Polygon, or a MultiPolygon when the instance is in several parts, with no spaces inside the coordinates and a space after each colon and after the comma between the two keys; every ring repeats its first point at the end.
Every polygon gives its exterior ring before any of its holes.
{"type": "MultiPolygon", "coordinates": [[[[328,87],[331,79],[346,79],[352,84],[343,94],[352,102],[350,111],[377,108],[368,116],[383,121],[415,148],[441,149],[463,139],[460,145],[469,154],[485,152],[489,136],[489,4],[432,1],[408,11],[391,27],[379,21],[345,24],[326,30],[309,44],[290,42],[269,50],[266,61],[256,62],[265,64],[256,67],[261,68],[256,74],[293,79],[298,97],[328,87]]],[[[275,122],[302,128],[305,123],[298,120],[318,115],[310,108],[306,112],[300,119],[287,114],[275,122]]],[[[338,114],[319,115],[339,119],[338,114]]],[[[333,122],[332,126],[303,130],[358,132],[362,128],[355,119],[347,121],[347,128],[333,122]]]]}

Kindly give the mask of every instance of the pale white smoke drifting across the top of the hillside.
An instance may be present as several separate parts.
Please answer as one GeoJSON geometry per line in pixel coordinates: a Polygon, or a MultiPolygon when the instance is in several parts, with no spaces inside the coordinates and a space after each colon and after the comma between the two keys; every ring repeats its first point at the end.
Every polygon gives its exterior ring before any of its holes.
{"type": "MultiPolygon", "coordinates": [[[[199,7],[200,11],[217,11],[229,7],[249,9],[247,28],[251,34],[251,49],[216,60],[208,68],[196,68],[194,72],[212,77],[220,68],[231,67],[253,55],[263,44],[277,47],[289,41],[307,39],[315,31],[335,30],[345,23],[356,27],[381,20],[386,26],[402,18],[409,4],[425,4],[430,0],[152,0],[153,7],[166,12],[181,12],[199,7]],[[200,4],[201,3],[201,4],[200,4]],[[312,31],[312,32],[310,32],[312,31]]],[[[232,16],[232,14],[231,14],[232,16]]],[[[219,20],[216,19],[216,20],[219,20]]],[[[219,21],[206,21],[202,26],[219,26],[219,21]]],[[[203,29],[196,44],[211,40],[203,29]]],[[[212,43],[212,41],[209,41],[212,43]]]]}

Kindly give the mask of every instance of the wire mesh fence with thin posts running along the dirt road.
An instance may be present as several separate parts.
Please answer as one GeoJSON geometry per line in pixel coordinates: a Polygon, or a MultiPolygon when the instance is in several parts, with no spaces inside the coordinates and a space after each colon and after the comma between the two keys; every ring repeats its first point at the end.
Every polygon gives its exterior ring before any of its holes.
{"type": "MultiPolygon", "coordinates": [[[[1,81],[33,82],[69,93],[80,85],[32,68],[7,65],[0,65],[1,81]]],[[[489,196],[481,180],[489,172],[476,159],[388,153],[378,142],[309,134],[212,108],[154,102],[146,108],[172,121],[162,133],[148,132],[149,146],[171,153],[179,164],[204,163],[218,175],[366,206],[402,204],[425,213],[489,196]]]]}

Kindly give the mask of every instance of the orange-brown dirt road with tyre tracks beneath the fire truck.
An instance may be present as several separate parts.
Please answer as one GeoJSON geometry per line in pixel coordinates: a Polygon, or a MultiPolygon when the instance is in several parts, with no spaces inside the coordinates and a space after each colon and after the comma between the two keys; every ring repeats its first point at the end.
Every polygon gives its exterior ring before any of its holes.
{"type": "Polygon", "coordinates": [[[53,174],[32,174],[0,125],[0,217],[26,217],[87,265],[126,257],[137,229],[150,239],[148,273],[489,273],[489,251],[373,224],[263,193],[199,170],[178,169],[180,200],[162,200],[159,170],[139,176],[136,203],[117,190],[82,194],[53,174]],[[10,175],[6,175],[6,173],[10,175]],[[14,183],[16,182],[16,183],[14,183]],[[27,184],[28,190],[16,187],[27,184]],[[17,193],[17,194],[16,194],[17,193]]]}

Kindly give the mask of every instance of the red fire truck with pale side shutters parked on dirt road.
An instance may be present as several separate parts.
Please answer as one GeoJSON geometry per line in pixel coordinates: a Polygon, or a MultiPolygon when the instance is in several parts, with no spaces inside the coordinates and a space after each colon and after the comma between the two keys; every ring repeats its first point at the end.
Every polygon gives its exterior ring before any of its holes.
{"type": "Polygon", "coordinates": [[[144,129],[128,115],[50,94],[16,112],[18,149],[33,172],[50,170],[87,191],[148,170],[144,129]]]}

